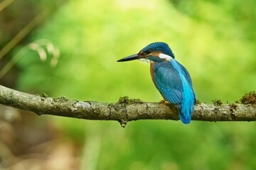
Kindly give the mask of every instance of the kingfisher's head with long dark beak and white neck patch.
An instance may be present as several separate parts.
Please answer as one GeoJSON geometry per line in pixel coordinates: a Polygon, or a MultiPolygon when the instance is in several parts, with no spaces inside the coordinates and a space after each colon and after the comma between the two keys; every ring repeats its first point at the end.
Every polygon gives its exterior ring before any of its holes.
{"type": "Polygon", "coordinates": [[[164,62],[174,59],[174,53],[165,42],[153,42],[146,45],[138,54],[124,57],[117,62],[127,62],[131,60],[150,60],[153,62],[164,62]]]}

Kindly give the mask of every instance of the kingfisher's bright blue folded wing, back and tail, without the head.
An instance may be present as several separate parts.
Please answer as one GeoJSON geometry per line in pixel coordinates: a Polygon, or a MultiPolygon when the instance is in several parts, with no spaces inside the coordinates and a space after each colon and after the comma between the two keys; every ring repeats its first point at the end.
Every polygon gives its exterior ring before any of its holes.
{"type": "Polygon", "coordinates": [[[170,103],[178,105],[179,117],[183,123],[190,123],[195,103],[191,77],[176,60],[155,63],[152,79],[161,95],[170,103]]]}

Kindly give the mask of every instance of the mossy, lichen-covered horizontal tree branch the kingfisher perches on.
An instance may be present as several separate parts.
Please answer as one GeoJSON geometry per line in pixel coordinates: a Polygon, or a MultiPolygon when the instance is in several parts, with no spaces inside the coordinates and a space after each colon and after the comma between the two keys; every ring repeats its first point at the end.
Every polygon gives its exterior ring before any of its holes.
{"type": "MultiPolygon", "coordinates": [[[[87,120],[117,120],[122,126],[132,120],[178,120],[178,113],[171,104],[146,103],[139,99],[122,98],[117,103],[68,100],[26,94],[0,85],[0,103],[37,115],[59,115],[87,120]]],[[[244,104],[201,103],[195,106],[192,120],[203,121],[255,121],[256,106],[244,104]]]]}

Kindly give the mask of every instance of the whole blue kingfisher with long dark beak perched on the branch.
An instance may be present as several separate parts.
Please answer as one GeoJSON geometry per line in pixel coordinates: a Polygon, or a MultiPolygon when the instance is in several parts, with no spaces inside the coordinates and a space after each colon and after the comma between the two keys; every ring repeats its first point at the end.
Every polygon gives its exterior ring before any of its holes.
{"type": "Polygon", "coordinates": [[[124,57],[117,62],[142,60],[150,63],[151,79],[164,101],[176,106],[182,123],[191,122],[196,96],[188,70],[176,61],[166,42],[153,42],[139,53],[124,57]]]}

